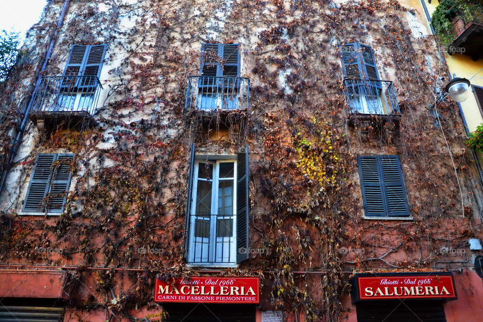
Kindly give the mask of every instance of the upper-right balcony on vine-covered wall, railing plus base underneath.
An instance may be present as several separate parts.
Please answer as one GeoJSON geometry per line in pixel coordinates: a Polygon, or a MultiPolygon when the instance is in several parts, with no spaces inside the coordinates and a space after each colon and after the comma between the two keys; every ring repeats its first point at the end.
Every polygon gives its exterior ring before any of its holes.
{"type": "Polygon", "coordinates": [[[368,121],[372,126],[391,123],[399,127],[400,111],[392,82],[346,78],[344,94],[350,109],[350,126],[355,126],[359,121],[368,121]]]}

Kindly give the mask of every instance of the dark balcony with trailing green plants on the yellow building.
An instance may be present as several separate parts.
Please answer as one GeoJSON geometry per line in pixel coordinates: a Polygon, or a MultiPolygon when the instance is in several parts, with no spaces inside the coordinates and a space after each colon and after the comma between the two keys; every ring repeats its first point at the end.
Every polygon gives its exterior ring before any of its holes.
{"type": "Polygon", "coordinates": [[[431,23],[450,55],[468,55],[475,61],[483,58],[481,1],[442,0],[433,13],[431,23]]]}

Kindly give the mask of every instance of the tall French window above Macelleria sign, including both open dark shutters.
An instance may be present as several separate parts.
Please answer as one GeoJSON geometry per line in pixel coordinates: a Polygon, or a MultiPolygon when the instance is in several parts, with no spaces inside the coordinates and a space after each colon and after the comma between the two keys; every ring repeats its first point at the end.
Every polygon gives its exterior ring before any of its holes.
{"type": "Polygon", "coordinates": [[[248,146],[233,158],[196,158],[192,145],[186,257],[199,265],[248,259],[248,146]]]}

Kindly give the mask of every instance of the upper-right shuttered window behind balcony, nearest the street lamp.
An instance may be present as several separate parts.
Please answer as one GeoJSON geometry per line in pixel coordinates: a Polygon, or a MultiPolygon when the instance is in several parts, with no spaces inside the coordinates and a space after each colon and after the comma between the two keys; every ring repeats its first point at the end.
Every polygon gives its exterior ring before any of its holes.
{"type": "Polygon", "coordinates": [[[389,114],[392,83],[381,81],[374,51],[370,46],[349,43],[341,46],[344,85],[353,112],[362,114],[389,114]]]}

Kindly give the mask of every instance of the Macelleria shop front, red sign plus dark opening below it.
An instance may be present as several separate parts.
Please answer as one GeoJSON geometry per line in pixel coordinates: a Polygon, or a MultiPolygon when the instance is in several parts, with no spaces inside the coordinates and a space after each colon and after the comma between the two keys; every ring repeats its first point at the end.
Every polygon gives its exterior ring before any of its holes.
{"type": "Polygon", "coordinates": [[[256,322],[260,303],[257,277],[156,278],[154,301],[167,321],[256,322]]]}

